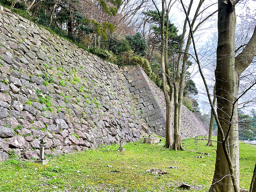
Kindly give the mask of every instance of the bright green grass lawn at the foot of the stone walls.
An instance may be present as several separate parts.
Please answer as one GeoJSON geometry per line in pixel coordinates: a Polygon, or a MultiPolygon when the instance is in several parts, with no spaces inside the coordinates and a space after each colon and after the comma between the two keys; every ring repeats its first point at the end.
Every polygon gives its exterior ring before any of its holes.
{"type": "MultiPolygon", "coordinates": [[[[216,147],[207,147],[206,143],[205,140],[197,143],[193,139],[185,140],[186,151],[173,151],[163,148],[164,141],[159,145],[138,141],[126,144],[123,153],[117,152],[117,145],[102,146],[50,157],[47,165],[10,159],[0,163],[0,191],[179,191],[177,187],[181,183],[190,184],[190,191],[208,191],[214,173],[216,147]],[[210,157],[196,152],[208,152],[210,157]],[[196,155],[204,158],[196,158],[196,155]],[[180,169],[169,169],[169,166],[180,169]],[[145,172],[150,168],[163,169],[168,174],[158,176],[145,172]]],[[[239,147],[240,187],[248,189],[256,148],[244,143],[239,147]]]]}

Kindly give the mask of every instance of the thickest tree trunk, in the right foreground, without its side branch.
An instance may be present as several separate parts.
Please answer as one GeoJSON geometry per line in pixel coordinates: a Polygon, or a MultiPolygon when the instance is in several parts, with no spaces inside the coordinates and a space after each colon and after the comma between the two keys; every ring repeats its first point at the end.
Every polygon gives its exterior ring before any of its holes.
{"type": "Polygon", "coordinates": [[[239,189],[239,144],[237,126],[237,102],[234,105],[235,114],[233,118],[233,103],[238,96],[239,76],[235,72],[235,29],[236,14],[233,1],[219,0],[218,7],[218,46],[217,65],[215,70],[217,114],[224,135],[228,138],[223,143],[220,130],[218,129],[218,143],[216,152],[215,172],[212,183],[221,180],[211,186],[210,192],[226,192],[239,189]],[[232,123],[234,122],[234,123],[232,123]],[[230,129],[229,129],[230,127],[230,129]],[[230,131],[229,131],[230,130],[230,131]],[[227,135],[229,133],[229,135],[227,135]],[[230,167],[225,157],[223,145],[227,145],[228,153],[234,169],[236,186],[232,186],[230,167]]]}

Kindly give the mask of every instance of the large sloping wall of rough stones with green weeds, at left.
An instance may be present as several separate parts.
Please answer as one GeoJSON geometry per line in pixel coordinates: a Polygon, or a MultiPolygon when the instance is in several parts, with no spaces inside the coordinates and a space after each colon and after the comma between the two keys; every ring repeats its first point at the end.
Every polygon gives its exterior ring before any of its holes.
{"type": "MultiPolygon", "coordinates": [[[[36,24],[0,10],[0,161],[38,158],[141,134],[119,68],[36,24]]],[[[126,81],[126,80],[125,80],[126,81]]]]}

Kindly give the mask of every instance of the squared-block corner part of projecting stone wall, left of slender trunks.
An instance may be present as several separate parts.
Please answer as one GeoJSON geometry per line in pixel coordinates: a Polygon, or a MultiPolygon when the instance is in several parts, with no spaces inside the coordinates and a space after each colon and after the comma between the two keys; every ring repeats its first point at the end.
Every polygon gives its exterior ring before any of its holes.
{"type": "Polygon", "coordinates": [[[127,87],[131,95],[137,100],[136,114],[145,119],[151,132],[165,136],[166,118],[162,91],[157,89],[139,65],[125,66],[121,71],[128,80],[127,87]]]}

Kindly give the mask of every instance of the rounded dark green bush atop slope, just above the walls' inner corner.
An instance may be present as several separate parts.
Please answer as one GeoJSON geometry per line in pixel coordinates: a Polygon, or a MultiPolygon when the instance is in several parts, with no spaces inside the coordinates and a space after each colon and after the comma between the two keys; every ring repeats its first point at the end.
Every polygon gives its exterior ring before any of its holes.
{"type": "Polygon", "coordinates": [[[141,33],[137,32],[135,35],[125,36],[125,39],[136,54],[142,57],[147,55],[148,45],[141,33]]]}

